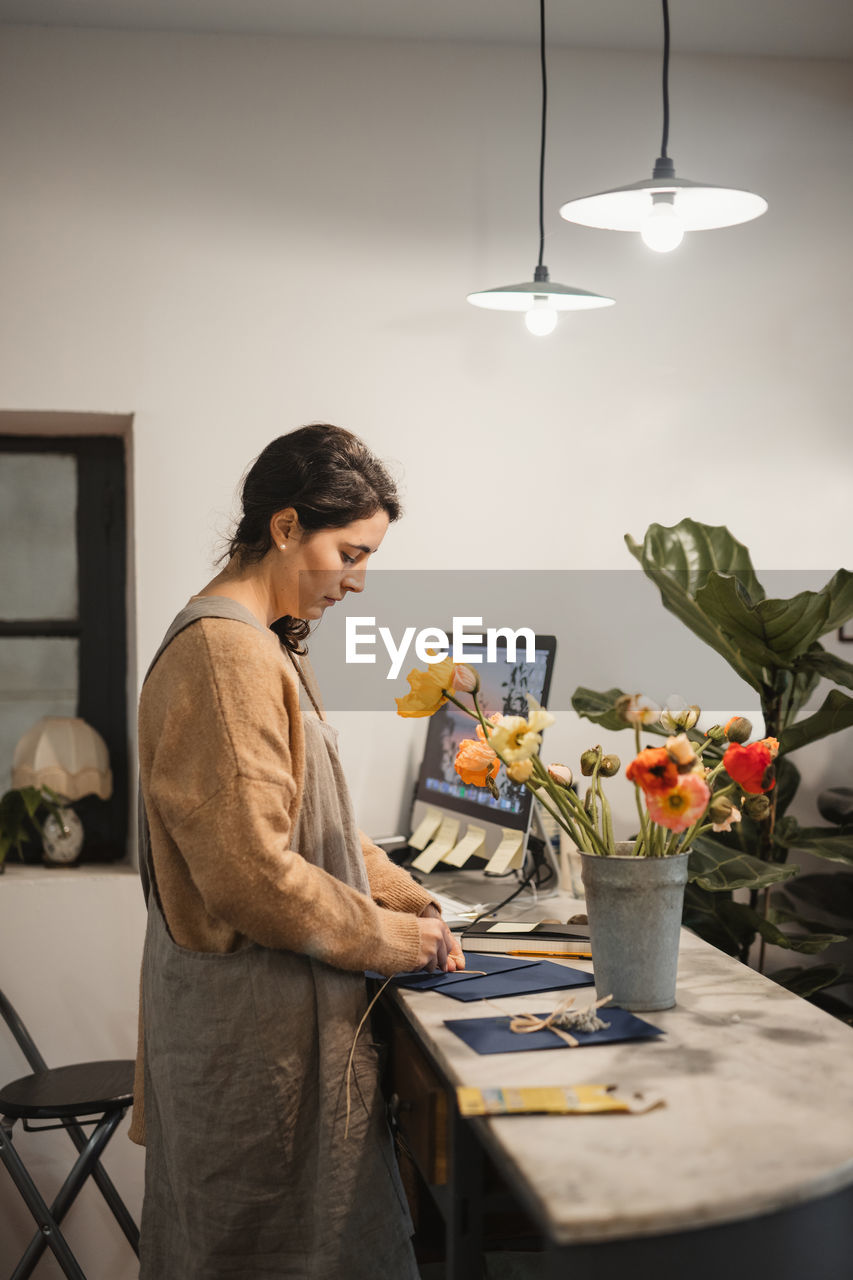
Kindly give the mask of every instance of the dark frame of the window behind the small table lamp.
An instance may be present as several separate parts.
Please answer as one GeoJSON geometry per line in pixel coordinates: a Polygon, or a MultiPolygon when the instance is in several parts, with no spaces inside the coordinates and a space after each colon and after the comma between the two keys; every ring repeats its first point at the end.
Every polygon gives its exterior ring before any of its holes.
{"type": "Polygon", "coordinates": [[[128,851],[126,449],[123,435],[0,434],[0,454],[76,458],[77,620],[0,618],[0,637],[73,636],[79,641],[77,714],[106,741],[113,771],[109,800],[86,796],[74,803],[86,829],[81,856],[86,863],[118,861],[128,851]]]}

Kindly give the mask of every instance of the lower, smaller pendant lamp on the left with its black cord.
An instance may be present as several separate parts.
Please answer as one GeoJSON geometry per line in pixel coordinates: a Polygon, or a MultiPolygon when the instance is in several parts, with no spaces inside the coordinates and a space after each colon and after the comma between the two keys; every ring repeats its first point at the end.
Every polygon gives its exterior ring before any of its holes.
{"type": "Polygon", "coordinates": [[[467,301],[475,307],[492,311],[524,311],[524,323],[538,337],[553,333],[560,311],[588,311],[593,307],[611,307],[612,298],[571,284],[557,284],[543,265],[544,253],[544,142],[548,108],[548,77],[546,70],[544,0],[539,0],[539,61],[542,65],[542,138],[539,143],[539,261],[533,279],[524,284],[501,284],[496,289],[469,293],[467,301]]]}

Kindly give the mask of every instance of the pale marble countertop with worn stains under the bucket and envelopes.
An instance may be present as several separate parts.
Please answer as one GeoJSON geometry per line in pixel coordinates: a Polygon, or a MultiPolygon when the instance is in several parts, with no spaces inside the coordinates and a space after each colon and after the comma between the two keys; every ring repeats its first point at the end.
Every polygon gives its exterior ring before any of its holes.
{"type": "MultiPolygon", "coordinates": [[[[549,908],[528,914],[558,914],[549,908]]],[[[462,1005],[396,992],[451,1084],[605,1082],[663,1094],[666,1106],[643,1115],[469,1121],[555,1243],[730,1222],[853,1183],[853,1030],[829,1014],[683,931],[676,1006],[640,1015],[666,1032],[660,1039],[480,1056],[444,1027],[548,1011],[558,998],[462,1005]]]]}

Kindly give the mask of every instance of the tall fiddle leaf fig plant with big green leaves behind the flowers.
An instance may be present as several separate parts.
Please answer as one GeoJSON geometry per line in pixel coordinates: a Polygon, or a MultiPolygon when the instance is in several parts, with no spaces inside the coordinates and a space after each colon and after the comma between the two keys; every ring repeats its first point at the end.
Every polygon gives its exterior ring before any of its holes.
{"type": "MultiPolygon", "coordinates": [[[[788,809],[797,794],[799,771],[790,755],[831,733],[853,726],[853,663],[829,653],[820,643],[853,618],[853,573],[839,570],[817,591],[789,599],[768,598],[758,581],[748,549],[726,527],[683,520],[672,527],[651,525],[642,543],[626,535],[628,549],[658,588],[663,607],[730,664],[758,694],[766,741],[777,741],[775,785],[766,812],[757,806],[729,831],[706,833],[694,842],[684,923],[731,955],[747,960],[756,937],[765,943],[815,955],[853,932],[853,913],[830,913],[831,924],[804,914],[809,895],[822,905],[833,896],[835,876],[798,876],[788,863],[790,850],[834,863],[853,864],[853,806],[822,809],[826,826],[800,827],[788,809]],[[831,689],[817,710],[800,712],[820,681],[831,689]],[[821,886],[816,886],[821,881],[821,886]],[[804,892],[798,892],[803,884],[804,892]],[[779,886],[784,884],[784,890],[779,886]],[[749,890],[749,901],[736,901],[734,890],[749,890]],[[771,892],[772,890],[772,892],[771,892]]],[[[596,692],[578,689],[575,710],[608,730],[625,728],[616,703],[619,689],[596,692]]],[[[647,726],[654,732],[654,726],[647,726]]],[[[665,728],[657,732],[666,733],[665,728]]],[[[689,736],[694,737],[690,730],[689,736]]],[[[722,751],[724,745],[719,748],[722,751]]],[[[707,763],[712,753],[706,753],[707,763]]],[[[836,873],[840,876],[850,873],[836,873]]],[[[840,888],[840,886],[839,886],[840,888]]],[[[849,896],[848,881],[844,891],[849,896]]],[[[841,896],[843,897],[843,896],[841,896]]],[[[849,982],[833,965],[779,973],[779,980],[815,997],[827,986],[849,982]]],[[[836,1011],[836,1010],[834,1010],[836,1011]]]]}

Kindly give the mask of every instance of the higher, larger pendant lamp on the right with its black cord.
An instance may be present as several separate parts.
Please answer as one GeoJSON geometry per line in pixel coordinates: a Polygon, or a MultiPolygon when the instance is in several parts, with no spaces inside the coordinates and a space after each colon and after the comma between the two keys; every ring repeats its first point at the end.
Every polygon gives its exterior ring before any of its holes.
{"type": "Polygon", "coordinates": [[[713,187],[707,182],[676,178],[666,154],[670,134],[670,6],[663,6],[663,134],[652,177],[615,187],[596,196],[570,200],[560,214],[566,221],[611,232],[639,232],[658,253],[678,248],[685,232],[734,227],[758,218],[767,201],[751,191],[713,187]]]}

